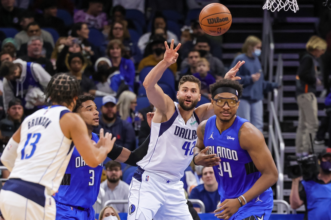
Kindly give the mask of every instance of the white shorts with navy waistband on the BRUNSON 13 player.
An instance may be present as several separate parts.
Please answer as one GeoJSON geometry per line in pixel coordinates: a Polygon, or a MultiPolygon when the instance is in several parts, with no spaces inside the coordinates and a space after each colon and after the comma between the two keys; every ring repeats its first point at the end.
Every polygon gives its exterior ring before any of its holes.
{"type": "Polygon", "coordinates": [[[0,191],[0,210],[5,219],[55,220],[56,205],[52,196],[47,195],[45,190],[43,195],[41,195],[41,187],[35,189],[33,186],[29,187],[29,184],[26,184],[25,181],[23,184],[22,182],[16,184],[19,181],[11,180],[13,179],[9,179],[3,186],[6,190],[1,189],[0,191]],[[22,189],[24,192],[21,193],[24,196],[19,194],[20,190],[16,190],[21,187],[24,187],[22,189]],[[31,197],[34,201],[26,197],[31,197]],[[44,200],[44,206],[40,204],[42,200],[44,200]]]}

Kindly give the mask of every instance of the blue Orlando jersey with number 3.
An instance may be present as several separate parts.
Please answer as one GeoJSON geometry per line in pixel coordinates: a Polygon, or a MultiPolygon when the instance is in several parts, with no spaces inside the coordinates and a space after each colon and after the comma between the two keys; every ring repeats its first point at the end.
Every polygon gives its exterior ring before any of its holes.
{"type": "MultiPolygon", "coordinates": [[[[92,140],[97,143],[98,135],[92,133],[92,140]]],[[[99,194],[102,166],[103,163],[95,168],[88,166],[74,148],[55,201],[69,206],[92,207],[99,194]]]]}

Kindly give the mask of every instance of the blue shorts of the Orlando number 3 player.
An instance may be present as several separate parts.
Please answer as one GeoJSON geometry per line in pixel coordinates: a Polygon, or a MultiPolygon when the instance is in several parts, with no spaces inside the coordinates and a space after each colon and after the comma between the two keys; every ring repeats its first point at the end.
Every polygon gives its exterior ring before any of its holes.
{"type": "Polygon", "coordinates": [[[75,207],[56,202],[56,220],[94,220],[95,212],[93,207],[86,210],[79,210],[75,207]]]}

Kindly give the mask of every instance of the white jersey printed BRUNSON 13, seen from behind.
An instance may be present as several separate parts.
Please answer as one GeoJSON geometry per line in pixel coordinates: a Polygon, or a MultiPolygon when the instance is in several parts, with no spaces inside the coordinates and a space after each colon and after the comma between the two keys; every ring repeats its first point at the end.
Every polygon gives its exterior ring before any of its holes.
{"type": "Polygon", "coordinates": [[[49,106],[24,119],[9,178],[43,185],[49,195],[58,191],[73,152],[72,140],[60,127],[60,118],[67,112],[67,107],[49,106]]]}

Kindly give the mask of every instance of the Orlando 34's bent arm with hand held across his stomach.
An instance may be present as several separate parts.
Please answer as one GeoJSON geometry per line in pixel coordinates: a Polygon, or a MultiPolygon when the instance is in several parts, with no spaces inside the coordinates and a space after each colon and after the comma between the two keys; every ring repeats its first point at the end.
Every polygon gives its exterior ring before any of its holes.
{"type": "Polygon", "coordinates": [[[208,154],[208,147],[204,145],[204,135],[205,135],[205,128],[206,128],[207,120],[200,123],[197,135],[198,141],[195,145],[193,151],[193,162],[195,165],[201,166],[216,166],[221,161],[219,157],[216,157],[216,154],[208,154]]]}

